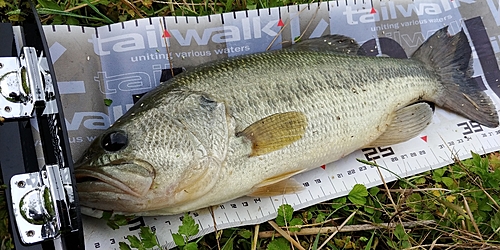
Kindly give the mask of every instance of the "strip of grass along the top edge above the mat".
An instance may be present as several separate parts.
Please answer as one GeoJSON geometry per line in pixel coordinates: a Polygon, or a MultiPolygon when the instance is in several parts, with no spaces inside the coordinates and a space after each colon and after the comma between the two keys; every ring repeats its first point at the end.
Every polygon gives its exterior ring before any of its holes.
{"type": "MultiPolygon", "coordinates": [[[[0,0],[2,22],[25,19],[21,0],[0,0]]],[[[310,3],[312,0],[33,0],[43,24],[102,26],[151,16],[202,16],[310,3]]],[[[23,0],[26,2],[26,0],[23,0]]]]}

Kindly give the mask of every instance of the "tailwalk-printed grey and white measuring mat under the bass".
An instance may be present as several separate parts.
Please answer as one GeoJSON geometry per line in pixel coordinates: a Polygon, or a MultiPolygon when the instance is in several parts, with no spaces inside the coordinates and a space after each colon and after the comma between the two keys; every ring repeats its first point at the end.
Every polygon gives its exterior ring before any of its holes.
{"type": "MultiPolygon", "coordinates": [[[[354,38],[368,54],[406,58],[443,26],[464,29],[473,47],[474,80],[500,107],[500,6],[498,1],[332,1],[241,11],[202,17],[157,17],[99,28],[45,26],[64,106],[73,158],[133,105],[134,96],[160,82],[162,69],[190,68],[203,62],[288,46],[326,34],[354,38]],[[166,41],[166,42],[165,42],[166,41]],[[168,52],[166,44],[168,44],[168,52]],[[170,60],[170,61],[169,61],[170,60]],[[111,99],[111,106],[104,105],[111,99]]],[[[370,67],[370,65],[367,65],[370,67]]],[[[388,93],[390,94],[390,93],[388,93]]],[[[390,147],[367,148],[294,177],[304,190],[277,197],[243,197],[215,207],[218,229],[261,223],[283,203],[305,208],[348,194],[356,183],[382,183],[377,169],[356,159],[376,161],[385,181],[439,168],[471,156],[500,150],[500,128],[485,128],[436,109],[433,122],[414,139],[390,147]]],[[[228,187],[231,188],[231,187],[228,187]]],[[[214,230],[206,210],[190,215],[200,234],[214,230]]],[[[87,249],[118,249],[141,225],[173,247],[171,233],[181,215],[140,217],[112,230],[85,217],[87,249]]]]}

